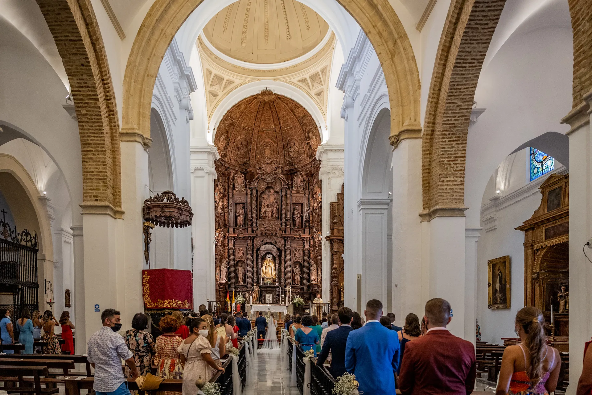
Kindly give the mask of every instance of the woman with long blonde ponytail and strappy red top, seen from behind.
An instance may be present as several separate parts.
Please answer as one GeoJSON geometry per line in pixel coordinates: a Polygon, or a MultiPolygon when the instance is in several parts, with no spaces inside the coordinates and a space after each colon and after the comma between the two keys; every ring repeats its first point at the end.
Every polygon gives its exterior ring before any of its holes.
{"type": "Polygon", "coordinates": [[[561,359],[546,345],[543,313],[524,307],[516,314],[514,330],[521,343],[508,346],[501,359],[496,395],[543,395],[555,391],[561,359]]]}

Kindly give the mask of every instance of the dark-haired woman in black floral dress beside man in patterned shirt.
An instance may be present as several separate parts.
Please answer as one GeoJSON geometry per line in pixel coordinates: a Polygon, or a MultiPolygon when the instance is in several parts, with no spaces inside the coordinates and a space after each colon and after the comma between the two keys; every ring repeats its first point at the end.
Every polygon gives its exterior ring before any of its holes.
{"type": "MultiPolygon", "coordinates": [[[[152,368],[152,357],[155,354],[154,338],[144,329],[148,327],[148,316],[144,313],[137,313],[131,320],[131,327],[126,332],[126,345],[134,354],[134,361],[140,371],[140,375],[150,373],[152,368]]],[[[126,377],[132,377],[130,367],[126,364],[126,377]]]]}

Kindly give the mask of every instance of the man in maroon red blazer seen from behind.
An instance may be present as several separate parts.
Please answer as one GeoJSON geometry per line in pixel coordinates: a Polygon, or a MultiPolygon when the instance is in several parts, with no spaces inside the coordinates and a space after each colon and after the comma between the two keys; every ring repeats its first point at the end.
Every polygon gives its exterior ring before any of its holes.
{"type": "Polygon", "coordinates": [[[427,301],[427,333],[405,345],[399,389],[401,394],[470,394],[475,387],[477,362],[471,342],[446,329],[452,317],[450,303],[427,301]]]}

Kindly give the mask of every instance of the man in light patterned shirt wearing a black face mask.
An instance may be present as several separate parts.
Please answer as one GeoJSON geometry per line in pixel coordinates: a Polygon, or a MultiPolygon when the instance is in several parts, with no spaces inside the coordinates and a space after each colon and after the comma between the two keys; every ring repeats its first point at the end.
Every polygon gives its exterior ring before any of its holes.
{"type": "Polygon", "coordinates": [[[121,329],[120,314],[115,309],[105,309],[101,314],[103,327],[88,339],[88,362],[95,368],[95,383],[92,388],[97,395],[130,394],[121,368],[121,359],[130,367],[134,380],[140,374],[133,354],[123,337],[117,333],[121,329]]]}

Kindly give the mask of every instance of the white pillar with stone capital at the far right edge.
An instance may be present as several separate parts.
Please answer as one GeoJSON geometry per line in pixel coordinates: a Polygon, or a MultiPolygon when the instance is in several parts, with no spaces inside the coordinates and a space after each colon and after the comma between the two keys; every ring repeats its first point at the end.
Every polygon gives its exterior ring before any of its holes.
{"type": "Polygon", "coordinates": [[[575,394],[582,372],[584,342],[592,332],[592,249],[583,246],[592,237],[592,139],[590,138],[590,105],[592,91],[584,102],[572,110],[564,123],[571,126],[570,137],[570,386],[566,393],[575,394]]]}

